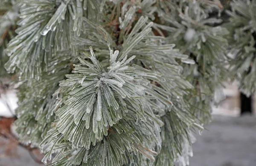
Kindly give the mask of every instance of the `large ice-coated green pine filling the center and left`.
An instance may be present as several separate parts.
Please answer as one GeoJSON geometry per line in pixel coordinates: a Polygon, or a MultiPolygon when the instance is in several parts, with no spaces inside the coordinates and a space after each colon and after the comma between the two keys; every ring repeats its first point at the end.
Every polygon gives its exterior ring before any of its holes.
{"type": "Polygon", "coordinates": [[[0,22],[16,33],[0,67],[21,84],[20,141],[45,164],[189,164],[228,78],[219,0],[3,2],[19,19],[0,22]]]}

